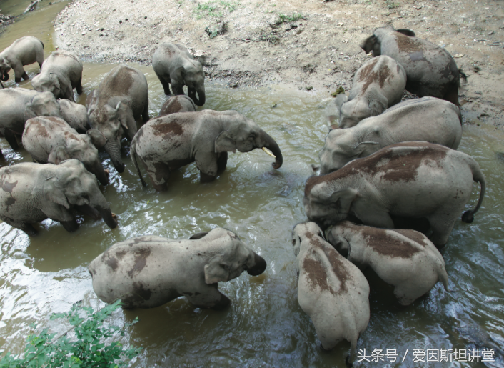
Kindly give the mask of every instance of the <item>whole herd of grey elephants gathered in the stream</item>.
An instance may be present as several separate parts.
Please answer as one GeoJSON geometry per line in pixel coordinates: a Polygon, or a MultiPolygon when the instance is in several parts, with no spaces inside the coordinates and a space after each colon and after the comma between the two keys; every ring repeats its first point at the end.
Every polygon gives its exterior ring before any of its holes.
{"type": "MultiPolygon", "coordinates": [[[[334,102],[338,113],[330,116],[320,175],[306,181],[308,222],[297,224],[292,233],[298,302],[311,317],[323,349],[343,339],[351,342],[348,364],[370,318],[370,288],[361,270],[371,267],[393,285],[403,305],[438,281],[448,290],[437,247],[448,242],[473,181],[481,185],[480,198],[463,221],[473,221],[485,193],[478,163],[455,151],[462,135],[458,88],[465,75],[450,54],[413,31],[391,26],[376,29],[361,47],[375,57],[358,69],[349,96],[341,94],[334,102]],[[400,102],[404,89],[421,98],[400,102]],[[429,237],[409,227],[395,229],[398,219],[420,218],[428,220],[429,237]]],[[[36,91],[0,91],[1,134],[13,149],[21,136],[34,159],[33,164],[0,169],[0,219],[12,227],[34,235],[31,224],[50,218],[74,231],[73,210],[103,217],[116,227],[116,216],[96,182],[109,182],[98,150],[104,149],[123,172],[124,138],[131,142],[142,184],[139,162],[158,191],[168,188],[171,171],[191,162],[196,162],[201,182],[212,181],[226,169],[230,151],[261,148],[274,157],[274,169],[283,164],[276,141],[253,120],[237,111],[196,111],[206,99],[204,73],[183,46],[162,44],[153,55],[165,94],[171,84],[175,95],[155,119],[148,114],[146,78],[137,69],[112,69],[91,91],[83,111],[73,101],[73,89],[82,92],[81,61],[69,51],[41,60],[43,48],[27,36],[0,54],[4,81],[11,68],[20,81],[27,78],[23,65],[41,65],[32,81],[36,91]]],[[[124,308],[158,307],[185,296],[196,307],[220,309],[229,299],[218,291],[219,281],[265,269],[261,256],[223,228],[185,240],[128,239],[89,265],[98,297],[108,303],[122,299],[124,308]]]]}

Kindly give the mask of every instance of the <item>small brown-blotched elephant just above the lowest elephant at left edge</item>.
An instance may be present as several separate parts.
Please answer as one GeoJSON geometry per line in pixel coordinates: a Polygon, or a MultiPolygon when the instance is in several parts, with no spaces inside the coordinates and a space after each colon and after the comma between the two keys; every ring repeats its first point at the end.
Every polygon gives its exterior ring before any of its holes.
{"type": "Polygon", "coordinates": [[[78,134],[63,119],[38,116],[26,121],[22,141],[26,151],[40,164],[57,165],[67,159],[78,159],[102,185],[109,184],[109,175],[95,147],[104,146],[106,139],[96,129],[78,134]]]}

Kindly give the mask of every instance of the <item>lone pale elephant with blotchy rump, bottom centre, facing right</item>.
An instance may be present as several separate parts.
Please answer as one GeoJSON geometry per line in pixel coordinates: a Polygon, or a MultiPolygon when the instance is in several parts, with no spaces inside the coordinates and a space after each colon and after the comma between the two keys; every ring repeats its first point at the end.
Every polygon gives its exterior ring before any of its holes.
{"type": "Polygon", "coordinates": [[[243,271],[262,274],[266,261],[233,232],[218,227],[188,240],[136,237],[114,244],[89,264],[96,295],[125,309],[159,307],[187,297],[198,308],[229,304],[218,282],[243,271]]]}

